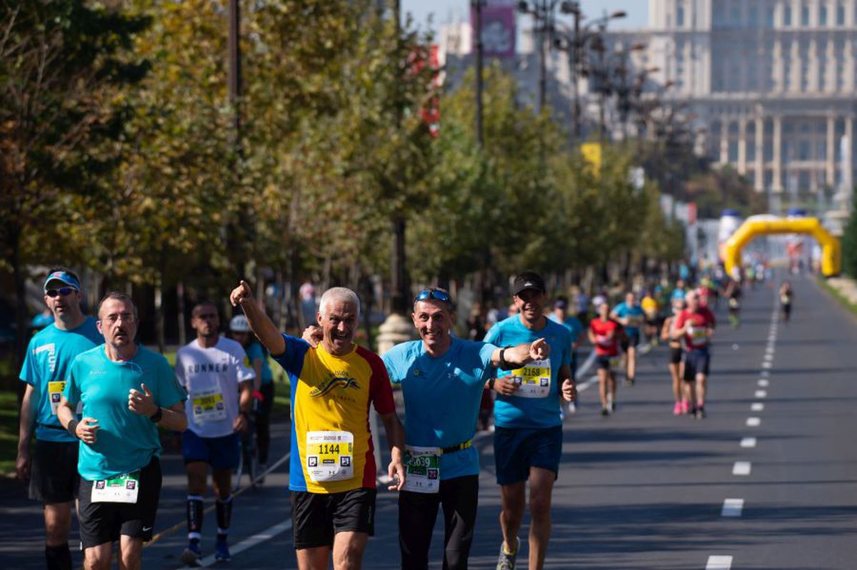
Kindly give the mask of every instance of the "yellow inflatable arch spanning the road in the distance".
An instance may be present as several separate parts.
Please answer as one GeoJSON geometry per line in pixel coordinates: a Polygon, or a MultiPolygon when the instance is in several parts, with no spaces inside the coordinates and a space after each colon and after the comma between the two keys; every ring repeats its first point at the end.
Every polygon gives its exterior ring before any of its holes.
{"type": "Polygon", "coordinates": [[[817,217],[799,217],[794,219],[747,220],[727,240],[723,249],[723,262],[728,275],[733,267],[740,267],[741,250],[758,235],[768,234],[809,234],[821,245],[821,272],[825,277],[837,276],[842,272],[842,248],[839,240],[830,235],[817,217]]]}

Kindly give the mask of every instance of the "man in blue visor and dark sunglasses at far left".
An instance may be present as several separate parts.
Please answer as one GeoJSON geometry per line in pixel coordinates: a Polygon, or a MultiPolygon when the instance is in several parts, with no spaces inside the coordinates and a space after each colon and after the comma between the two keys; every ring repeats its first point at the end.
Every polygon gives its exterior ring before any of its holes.
{"type": "Polygon", "coordinates": [[[27,383],[21,401],[21,425],[15,472],[29,482],[29,496],[45,507],[45,561],[48,570],[71,568],[71,502],[77,496],[78,441],[57,419],[72,360],[104,342],[95,319],[81,311],[80,279],[63,267],[52,269],[43,287],[53,323],[30,340],[21,367],[27,383]],[[30,439],[35,425],[36,447],[30,439]]]}

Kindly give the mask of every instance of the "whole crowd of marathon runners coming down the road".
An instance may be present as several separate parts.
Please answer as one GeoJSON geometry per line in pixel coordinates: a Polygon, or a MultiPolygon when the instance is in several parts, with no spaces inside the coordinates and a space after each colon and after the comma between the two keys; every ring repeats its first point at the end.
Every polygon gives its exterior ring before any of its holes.
{"type": "MultiPolygon", "coordinates": [[[[691,280],[682,276],[674,288],[644,285],[614,305],[608,294],[596,294],[590,304],[579,291],[571,300],[552,301],[542,276],[525,271],[512,280],[511,314],[496,319],[480,340],[454,334],[456,310],[448,291],[424,288],[411,313],[418,340],[381,356],[355,342],[361,304],[350,289],[322,294],[317,326],[298,338],[279,331],[240,282],[229,297],[237,313],[229,330],[221,330],[216,303],[198,303],[191,313],[195,339],[178,350],[171,366],[135,341],[139,316],[128,294],[107,294],[93,318],[81,308],[78,276],[51,270],[44,299],[53,323],[33,336],[21,369],[27,389],[16,461],[29,496],[44,504],[46,567],[71,567],[75,500],[85,567],[110,567],[114,543],[120,567],[141,567],[161,490],[159,428],[182,437],[188,544],[181,560],[190,567],[201,563],[209,472],[214,558],[230,560],[233,473],[243,446],[254,445],[262,466],[267,462],[270,356],[291,381],[289,489],[298,567],[327,568],[331,560],[336,568],[360,567],[375,529],[378,471],[385,468],[375,464],[368,415],[374,407],[389,446],[389,489],[399,492],[402,567],[428,567],[440,510],[443,567],[466,568],[480,472],[473,438],[487,423],[481,410],[488,394],[502,503],[496,567],[516,567],[519,531],[529,512],[526,553],[529,567],[541,568],[563,415],[578,410],[578,351],[587,341],[605,417],[617,409],[617,373],[634,385],[638,350],[659,341],[669,348],[673,413],[705,417],[716,328],[710,307],[728,299],[738,326],[740,290],[749,277],[740,270],[725,276],[715,267],[701,272],[692,288],[691,280]],[[404,409],[397,410],[394,387],[404,409]]],[[[788,320],[788,282],[778,294],[788,320]]]]}

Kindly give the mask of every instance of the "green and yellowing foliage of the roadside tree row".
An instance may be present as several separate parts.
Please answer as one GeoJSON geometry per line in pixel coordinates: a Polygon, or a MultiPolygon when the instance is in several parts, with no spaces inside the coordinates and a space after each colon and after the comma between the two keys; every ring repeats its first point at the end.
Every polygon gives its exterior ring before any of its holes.
{"type": "Polygon", "coordinates": [[[88,5],[0,4],[3,230],[27,261],[62,227],[69,262],[110,282],[222,291],[269,268],[357,287],[388,275],[396,218],[421,282],[680,256],[663,181],[629,180],[639,155],[608,145],[595,175],[499,66],[480,147],[472,72],[439,86],[432,39],[374,0],[243,3],[235,108],[225,1],[88,5]]]}

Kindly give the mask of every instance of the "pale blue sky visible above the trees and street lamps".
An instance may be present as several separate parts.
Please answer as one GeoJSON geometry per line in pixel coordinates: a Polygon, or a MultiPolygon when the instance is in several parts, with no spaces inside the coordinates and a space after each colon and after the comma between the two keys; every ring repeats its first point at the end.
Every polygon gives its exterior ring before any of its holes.
{"type": "MultiPolygon", "coordinates": [[[[469,21],[470,0],[401,0],[403,14],[410,12],[418,27],[425,27],[428,15],[433,14],[432,28],[437,32],[438,27],[448,21],[469,21]]],[[[629,27],[644,27],[648,22],[649,3],[647,0],[580,0],[584,16],[590,18],[601,16],[604,10],[614,12],[625,10],[627,17],[610,22],[613,29],[629,27]]]]}

